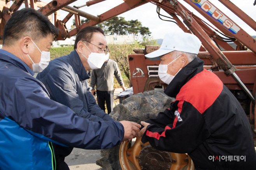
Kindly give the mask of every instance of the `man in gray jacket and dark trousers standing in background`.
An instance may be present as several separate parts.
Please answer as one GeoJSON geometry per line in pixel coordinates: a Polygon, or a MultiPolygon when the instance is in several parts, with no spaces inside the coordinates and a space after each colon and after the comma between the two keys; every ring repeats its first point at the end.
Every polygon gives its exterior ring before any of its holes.
{"type": "Polygon", "coordinates": [[[120,70],[115,61],[107,59],[100,69],[91,71],[91,93],[97,93],[98,105],[104,112],[106,101],[108,114],[113,110],[114,76],[123,91],[126,90],[120,70]],[[95,90],[95,84],[97,90],[95,90]]]}

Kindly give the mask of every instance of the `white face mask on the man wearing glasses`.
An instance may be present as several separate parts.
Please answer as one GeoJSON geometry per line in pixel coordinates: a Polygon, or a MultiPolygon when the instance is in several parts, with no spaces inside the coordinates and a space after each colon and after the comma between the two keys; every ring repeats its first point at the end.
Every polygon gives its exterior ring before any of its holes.
{"type": "MultiPolygon", "coordinates": [[[[88,48],[88,50],[91,52],[91,50],[89,48],[88,48]]],[[[85,57],[85,58],[87,58],[87,57],[85,57]]],[[[100,69],[102,67],[103,63],[105,62],[105,60],[107,60],[106,58],[109,58],[109,53],[107,53],[107,55],[105,55],[105,53],[92,53],[91,52],[91,54],[87,58],[87,62],[88,62],[89,66],[91,67],[92,70],[93,69],[100,69]]]]}

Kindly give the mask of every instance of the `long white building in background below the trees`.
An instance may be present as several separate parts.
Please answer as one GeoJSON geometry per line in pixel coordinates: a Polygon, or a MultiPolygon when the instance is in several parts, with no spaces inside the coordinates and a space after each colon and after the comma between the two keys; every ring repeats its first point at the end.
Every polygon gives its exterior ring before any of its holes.
{"type": "Polygon", "coordinates": [[[107,45],[113,44],[134,44],[133,35],[104,35],[107,40],[107,45]]]}

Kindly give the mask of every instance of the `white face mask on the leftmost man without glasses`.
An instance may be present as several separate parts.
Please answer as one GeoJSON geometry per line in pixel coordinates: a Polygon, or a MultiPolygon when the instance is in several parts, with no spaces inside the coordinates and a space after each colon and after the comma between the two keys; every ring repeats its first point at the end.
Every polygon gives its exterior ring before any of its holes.
{"type": "MultiPolygon", "coordinates": [[[[31,39],[31,41],[33,42],[32,39],[31,39]]],[[[35,43],[34,43],[34,45],[35,45],[35,43]]],[[[37,45],[35,45],[35,46],[37,47],[37,45]]],[[[37,47],[37,49],[39,50],[38,47],[37,47]]],[[[30,58],[29,55],[28,55],[28,57],[30,58]]],[[[33,60],[31,58],[30,58],[30,60],[33,62],[33,60]]],[[[50,52],[42,51],[40,62],[38,64],[33,62],[33,64],[32,64],[33,72],[42,72],[48,66],[50,60],[51,60],[50,52]]]]}

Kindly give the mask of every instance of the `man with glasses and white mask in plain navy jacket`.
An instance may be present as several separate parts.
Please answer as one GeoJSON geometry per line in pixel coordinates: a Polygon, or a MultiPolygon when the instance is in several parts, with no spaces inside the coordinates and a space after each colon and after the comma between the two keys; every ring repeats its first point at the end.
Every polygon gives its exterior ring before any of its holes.
{"type": "MultiPolygon", "coordinates": [[[[84,27],[77,33],[74,51],[49,62],[47,68],[37,75],[37,79],[46,86],[52,100],[68,106],[78,116],[93,122],[114,121],[96,104],[88,84],[90,70],[97,69],[95,65],[102,66],[109,55],[106,48],[107,42],[101,28],[84,27]]],[[[53,148],[56,170],[69,170],[64,160],[73,148],[58,144],[53,144],[53,148]]]]}

